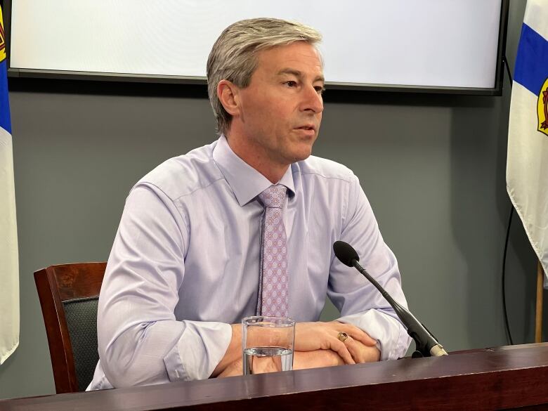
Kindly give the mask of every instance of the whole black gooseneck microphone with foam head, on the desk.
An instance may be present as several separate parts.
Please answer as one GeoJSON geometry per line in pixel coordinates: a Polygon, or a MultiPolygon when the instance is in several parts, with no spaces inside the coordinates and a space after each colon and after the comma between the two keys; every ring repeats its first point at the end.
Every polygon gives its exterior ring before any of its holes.
{"type": "Polygon", "coordinates": [[[416,351],[413,353],[413,357],[429,357],[433,355],[434,357],[440,357],[441,355],[448,355],[443,346],[436,340],[435,337],[426,330],[426,327],[415,318],[415,315],[412,315],[407,308],[398,304],[398,301],[394,300],[386,290],[381,287],[381,285],[372,278],[372,276],[367,273],[365,268],[363,268],[358,261],[360,257],[358,253],[355,252],[355,249],[350,244],[347,244],[344,241],[336,241],[333,244],[333,251],[335,256],[341,263],[348,267],[355,267],[360,273],[364,275],[367,280],[369,280],[372,285],[374,285],[382,296],[389,302],[392,306],[398,318],[400,318],[403,325],[407,328],[407,334],[410,335],[412,339],[415,340],[416,351]]]}

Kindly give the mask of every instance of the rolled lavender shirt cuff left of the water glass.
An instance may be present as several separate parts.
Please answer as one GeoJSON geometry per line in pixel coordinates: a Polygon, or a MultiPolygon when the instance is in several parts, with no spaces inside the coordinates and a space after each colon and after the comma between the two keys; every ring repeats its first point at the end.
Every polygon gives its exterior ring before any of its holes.
{"type": "Polygon", "coordinates": [[[164,357],[169,381],[207,379],[221,362],[232,339],[224,322],[183,321],[185,330],[164,357]]]}

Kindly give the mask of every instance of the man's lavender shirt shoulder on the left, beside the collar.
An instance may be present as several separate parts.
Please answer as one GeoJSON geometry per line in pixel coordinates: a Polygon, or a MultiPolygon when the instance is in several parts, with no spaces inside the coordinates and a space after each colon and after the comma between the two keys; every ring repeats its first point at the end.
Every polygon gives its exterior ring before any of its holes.
{"type": "Polygon", "coordinates": [[[185,155],[172,157],[146,174],[137,185],[152,185],[171,200],[205,188],[223,178],[213,159],[211,143],[185,155]]]}

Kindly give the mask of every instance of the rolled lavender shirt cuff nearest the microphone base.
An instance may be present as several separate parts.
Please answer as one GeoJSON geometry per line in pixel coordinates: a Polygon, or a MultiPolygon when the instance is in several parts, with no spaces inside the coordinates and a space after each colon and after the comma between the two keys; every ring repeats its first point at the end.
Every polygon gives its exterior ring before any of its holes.
{"type": "Polygon", "coordinates": [[[335,321],[355,325],[367,332],[372,339],[376,339],[377,348],[381,351],[381,360],[396,360],[403,357],[411,343],[405,327],[396,318],[378,310],[344,315],[335,321]]]}

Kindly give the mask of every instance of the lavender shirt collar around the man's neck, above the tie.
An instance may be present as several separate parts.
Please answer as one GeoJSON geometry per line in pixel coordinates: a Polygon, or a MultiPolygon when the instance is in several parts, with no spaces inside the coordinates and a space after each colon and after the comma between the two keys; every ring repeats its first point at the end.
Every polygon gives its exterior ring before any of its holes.
{"type": "MultiPolygon", "coordinates": [[[[213,159],[221,173],[226,178],[228,185],[232,188],[240,207],[253,200],[257,195],[266,190],[272,183],[256,171],[247,162],[233,152],[226,137],[221,135],[213,150],[213,159]]],[[[285,185],[290,196],[295,195],[295,185],[291,167],[287,167],[285,174],[278,184],[285,185]]]]}

